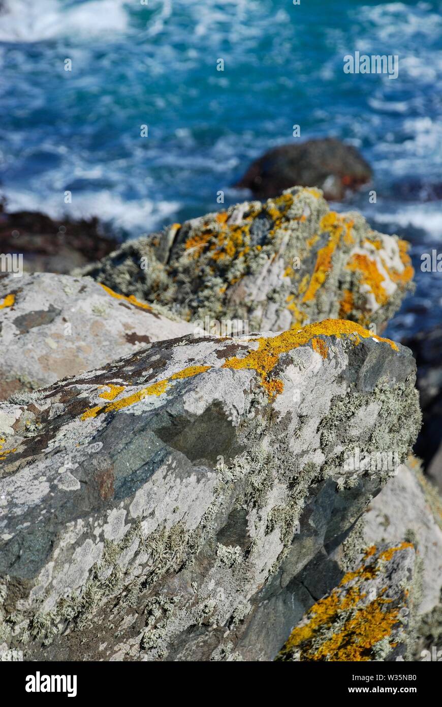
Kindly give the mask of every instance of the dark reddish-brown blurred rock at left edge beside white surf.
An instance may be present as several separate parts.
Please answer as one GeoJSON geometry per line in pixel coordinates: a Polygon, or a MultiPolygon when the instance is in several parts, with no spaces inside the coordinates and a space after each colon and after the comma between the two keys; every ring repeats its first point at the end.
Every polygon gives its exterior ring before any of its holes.
{"type": "Polygon", "coordinates": [[[62,221],[37,211],[7,214],[0,209],[0,250],[23,255],[26,272],[68,273],[108,255],[117,247],[97,218],[62,221]]]}

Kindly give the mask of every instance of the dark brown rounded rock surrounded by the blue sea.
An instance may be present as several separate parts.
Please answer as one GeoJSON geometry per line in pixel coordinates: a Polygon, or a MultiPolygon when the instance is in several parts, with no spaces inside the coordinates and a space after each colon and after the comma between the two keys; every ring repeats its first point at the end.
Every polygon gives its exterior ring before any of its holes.
{"type": "Polygon", "coordinates": [[[258,199],[277,197],[295,185],[319,187],[325,199],[340,201],[348,189],[371,180],[366,160],[335,138],[275,147],[255,160],[235,187],[251,189],[258,199]]]}

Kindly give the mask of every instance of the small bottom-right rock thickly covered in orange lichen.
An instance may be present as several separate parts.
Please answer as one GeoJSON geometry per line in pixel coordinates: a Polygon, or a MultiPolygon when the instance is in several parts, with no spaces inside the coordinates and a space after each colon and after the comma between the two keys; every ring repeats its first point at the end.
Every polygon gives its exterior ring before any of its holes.
{"type": "Polygon", "coordinates": [[[313,604],[277,660],[410,660],[414,547],[367,549],[362,564],[313,604]]]}

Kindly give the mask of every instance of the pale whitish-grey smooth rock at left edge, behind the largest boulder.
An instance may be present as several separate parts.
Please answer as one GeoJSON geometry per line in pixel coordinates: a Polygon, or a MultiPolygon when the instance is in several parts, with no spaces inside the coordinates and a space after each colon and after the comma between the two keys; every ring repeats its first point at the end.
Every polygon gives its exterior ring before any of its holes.
{"type": "Polygon", "coordinates": [[[0,399],[192,331],[90,278],[0,276],[0,399]]]}

